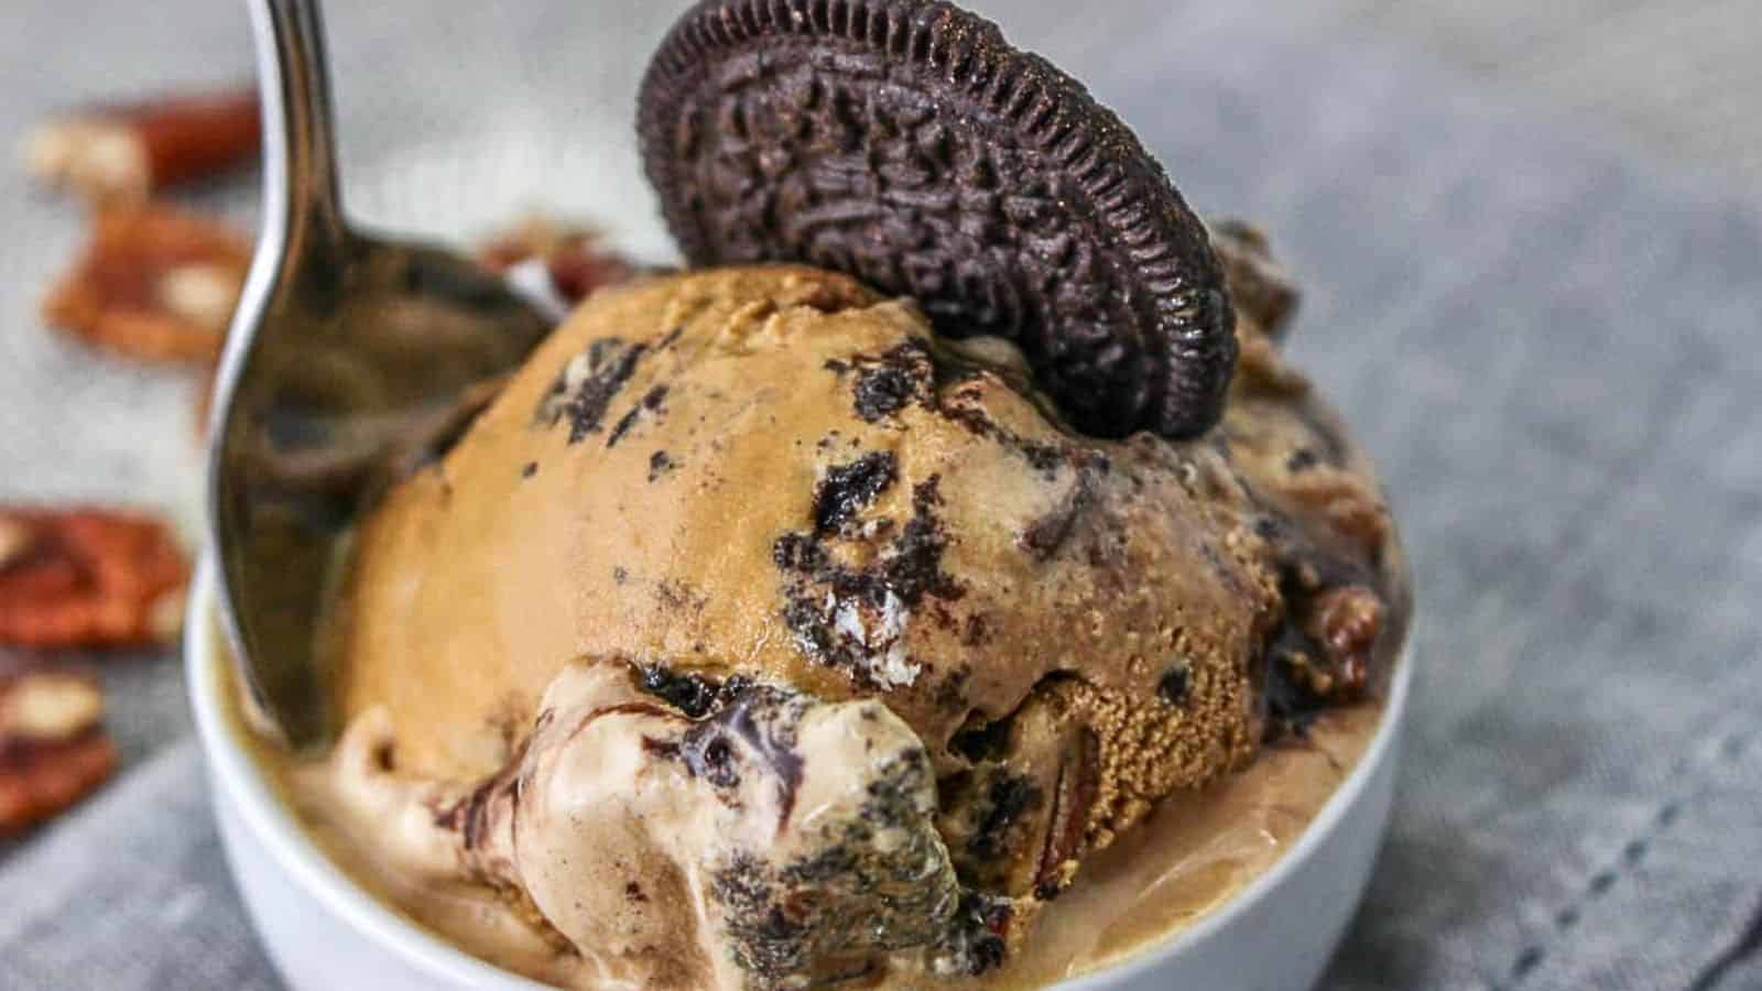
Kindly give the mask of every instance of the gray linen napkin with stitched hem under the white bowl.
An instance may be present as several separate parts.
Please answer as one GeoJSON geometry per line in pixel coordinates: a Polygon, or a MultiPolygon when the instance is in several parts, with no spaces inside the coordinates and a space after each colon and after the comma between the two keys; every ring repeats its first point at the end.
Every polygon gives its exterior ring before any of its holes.
{"type": "MultiPolygon", "coordinates": [[[[1762,217],[1265,9],[980,5],[1084,76],[1193,203],[1265,222],[1309,287],[1295,351],[1397,504],[1413,725],[1325,986],[1762,987],[1762,217]]],[[[396,44],[337,16],[340,78],[412,78],[423,44],[465,37],[518,65],[627,58],[580,9],[416,19],[396,44]]],[[[553,85],[518,65],[520,93],[553,85]]],[[[458,72],[435,86],[467,90],[458,72]]],[[[345,102],[349,175],[377,175],[366,199],[393,219],[414,215],[386,180],[398,141],[448,125],[446,102],[416,106],[375,129],[384,106],[345,102]]],[[[181,718],[171,702],[162,725],[181,718]]],[[[173,746],[0,862],[0,987],[275,986],[197,764],[173,746]]]]}

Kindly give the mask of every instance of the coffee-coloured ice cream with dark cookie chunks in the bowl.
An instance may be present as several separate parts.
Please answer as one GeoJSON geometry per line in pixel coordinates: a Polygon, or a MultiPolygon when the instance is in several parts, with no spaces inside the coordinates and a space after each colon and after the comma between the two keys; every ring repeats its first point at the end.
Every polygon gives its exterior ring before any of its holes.
{"type": "Polygon", "coordinates": [[[840,275],[596,294],[365,527],[305,804],[581,987],[1006,973],[1085,861],[1401,640],[1288,286],[1214,242],[1242,361],[1184,443],[1077,434],[1011,346],[840,275]]]}

